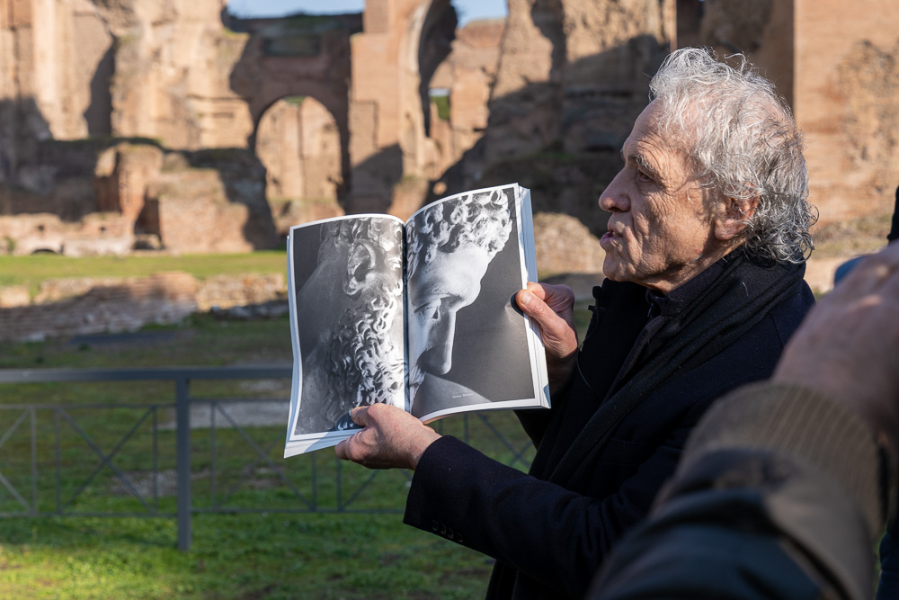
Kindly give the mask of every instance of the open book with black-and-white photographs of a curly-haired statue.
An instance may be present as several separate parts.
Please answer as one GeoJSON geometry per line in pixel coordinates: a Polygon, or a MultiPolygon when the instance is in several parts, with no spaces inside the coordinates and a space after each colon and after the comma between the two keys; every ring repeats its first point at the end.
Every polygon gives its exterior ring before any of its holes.
{"type": "Polygon", "coordinates": [[[537,280],[530,191],[458,193],[404,223],[353,215],[290,228],[293,385],[285,458],[386,402],[424,422],[549,407],[539,329],[514,295],[537,280]]]}

